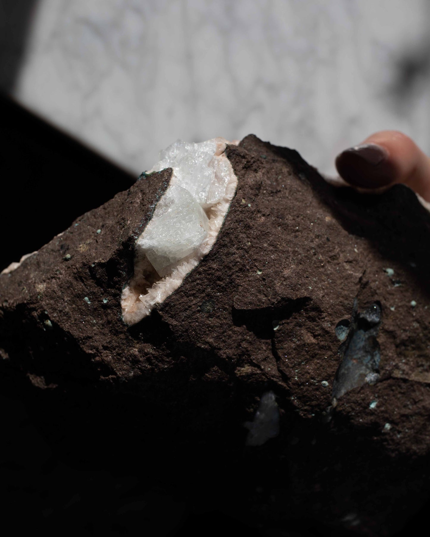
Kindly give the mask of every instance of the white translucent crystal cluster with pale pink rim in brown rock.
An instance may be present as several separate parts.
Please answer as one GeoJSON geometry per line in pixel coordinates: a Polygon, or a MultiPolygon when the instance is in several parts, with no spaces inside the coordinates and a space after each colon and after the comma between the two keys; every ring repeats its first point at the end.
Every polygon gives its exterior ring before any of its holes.
{"type": "Polygon", "coordinates": [[[147,172],[173,168],[167,191],[136,242],[134,275],[121,296],[125,323],[137,323],[173,293],[216,241],[237,187],[224,154],[227,143],[178,140],[147,172]]]}

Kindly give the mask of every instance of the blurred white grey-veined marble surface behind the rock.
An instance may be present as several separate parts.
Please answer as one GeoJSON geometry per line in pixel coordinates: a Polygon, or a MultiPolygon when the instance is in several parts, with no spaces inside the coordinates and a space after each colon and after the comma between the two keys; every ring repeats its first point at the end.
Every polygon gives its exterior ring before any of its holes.
{"type": "Polygon", "coordinates": [[[429,14],[428,0],[39,0],[9,91],[135,175],[177,138],[249,133],[335,175],[376,130],[430,149],[429,14]]]}

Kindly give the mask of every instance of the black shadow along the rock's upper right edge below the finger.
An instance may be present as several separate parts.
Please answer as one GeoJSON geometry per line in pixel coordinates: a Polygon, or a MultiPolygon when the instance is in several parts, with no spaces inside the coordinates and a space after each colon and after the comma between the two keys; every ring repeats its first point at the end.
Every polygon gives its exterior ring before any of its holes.
{"type": "Polygon", "coordinates": [[[309,180],[349,234],[366,238],[381,256],[402,264],[430,296],[430,213],[410,188],[395,185],[382,194],[361,194],[350,187],[335,187],[297,151],[283,147],[273,151],[288,159],[300,178],[309,180]]]}

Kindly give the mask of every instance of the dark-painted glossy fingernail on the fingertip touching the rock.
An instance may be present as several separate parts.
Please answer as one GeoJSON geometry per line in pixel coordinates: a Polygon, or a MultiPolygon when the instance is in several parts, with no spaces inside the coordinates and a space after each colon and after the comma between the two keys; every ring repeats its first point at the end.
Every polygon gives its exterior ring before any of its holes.
{"type": "Polygon", "coordinates": [[[362,188],[378,188],[393,182],[394,170],[388,150],[376,143],[350,147],[336,157],[336,168],[347,183],[362,188]]]}

